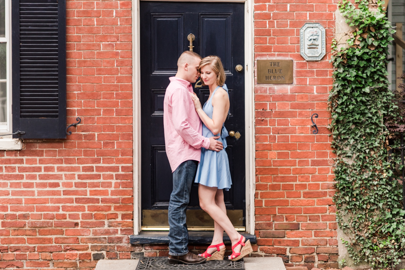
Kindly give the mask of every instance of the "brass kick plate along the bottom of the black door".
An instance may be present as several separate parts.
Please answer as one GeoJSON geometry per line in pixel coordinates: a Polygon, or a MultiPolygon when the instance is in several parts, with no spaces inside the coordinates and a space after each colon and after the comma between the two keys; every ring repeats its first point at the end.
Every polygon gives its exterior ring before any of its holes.
{"type": "MultiPolygon", "coordinates": [[[[226,214],[235,228],[245,228],[242,210],[226,210],[226,214]]],[[[168,210],[142,210],[142,230],[147,227],[169,230],[168,210]]],[[[187,227],[189,230],[211,231],[214,230],[214,220],[204,210],[187,209],[187,227]]]]}

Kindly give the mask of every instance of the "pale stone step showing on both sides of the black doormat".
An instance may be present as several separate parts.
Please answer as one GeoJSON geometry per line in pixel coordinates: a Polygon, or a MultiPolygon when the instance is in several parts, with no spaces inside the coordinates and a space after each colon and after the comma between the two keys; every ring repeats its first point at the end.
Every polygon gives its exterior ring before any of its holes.
{"type": "MultiPolygon", "coordinates": [[[[247,257],[246,270],[286,270],[280,257],[247,257]]],[[[138,259],[132,260],[99,260],[95,270],[136,270],[138,259]]]]}

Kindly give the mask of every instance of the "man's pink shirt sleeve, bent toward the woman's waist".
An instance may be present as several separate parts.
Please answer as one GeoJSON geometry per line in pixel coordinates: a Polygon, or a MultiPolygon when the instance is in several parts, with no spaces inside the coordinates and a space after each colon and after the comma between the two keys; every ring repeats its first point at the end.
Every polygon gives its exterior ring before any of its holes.
{"type": "MultiPolygon", "coordinates": [[[[177,133],[194,148],[209,149],[210,139],[199,134],[188,122],[190,96],[183,89],[176,89],[172,95],[172,120],[177,133]]],[[[194,109],[194,108],[193,108],[194,109]]]]}

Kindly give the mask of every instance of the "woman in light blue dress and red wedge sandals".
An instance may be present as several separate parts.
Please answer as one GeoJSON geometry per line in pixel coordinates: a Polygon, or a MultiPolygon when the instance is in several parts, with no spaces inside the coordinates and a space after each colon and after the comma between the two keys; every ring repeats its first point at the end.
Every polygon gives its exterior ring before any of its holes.
{"type": "Polygon", "coordinates": [[[218,56],[208,56],[201,60],[199,72],[203,85],[210,88],[210,97],[201,108],[198,97],[192,95],[195,110],[203,121],[203,136],[210,138],[220,136],[224,149],[215,152],[201,149],[201,161],[197,167],[195,183],[198,185],[198,198],[200,207],[214,219],[214,238],[206,252],[199,254],[207,260],[223,259],[225,245],[223,232],[228,234],[232,242],[232,255],[230,260],[240,258],[252,253],[250,241],[236,232],[228,216],[224,202],[223,190],[231,187],[228,156],[225,152],[228,131],[224,126],[229,111],[228,88],[225,82],[225,72],[218,56]],[[222,87],[221,87],[222,86],[222,87]],[[246,243],[245,243],[246,241],[246,243]]]}

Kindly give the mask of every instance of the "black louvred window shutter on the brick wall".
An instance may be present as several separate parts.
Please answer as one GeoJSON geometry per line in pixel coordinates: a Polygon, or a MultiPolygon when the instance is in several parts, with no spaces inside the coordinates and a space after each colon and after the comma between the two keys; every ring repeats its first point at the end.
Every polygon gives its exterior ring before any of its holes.
{"type": "Polygon", "coordinates": [[[66,138],[66,0],[12,0],[13,133],[66,138]]]}

